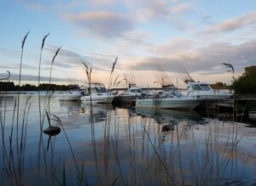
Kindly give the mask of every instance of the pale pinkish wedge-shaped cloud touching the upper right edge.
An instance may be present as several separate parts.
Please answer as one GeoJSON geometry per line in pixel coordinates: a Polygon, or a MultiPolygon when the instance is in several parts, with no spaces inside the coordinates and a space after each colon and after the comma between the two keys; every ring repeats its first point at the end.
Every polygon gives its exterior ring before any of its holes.
{"type": "Polygon", "coordinates": [[[256,11],[243,14],[240,17],[230,20],[224,20],[218,24],[209,25],[201,33],[214,34],[214,33],[229,33],[250,25],[256,25],[256,11]]]}

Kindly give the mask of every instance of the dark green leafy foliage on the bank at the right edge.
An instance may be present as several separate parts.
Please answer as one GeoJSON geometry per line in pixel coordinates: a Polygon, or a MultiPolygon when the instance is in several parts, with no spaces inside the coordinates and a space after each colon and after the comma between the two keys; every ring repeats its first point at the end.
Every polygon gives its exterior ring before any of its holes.
{"type": "Polygon", "coordinates": [[[245,72],[232,83],[236,93],[256,93],[256,65],[248,66],[245,72]]]}

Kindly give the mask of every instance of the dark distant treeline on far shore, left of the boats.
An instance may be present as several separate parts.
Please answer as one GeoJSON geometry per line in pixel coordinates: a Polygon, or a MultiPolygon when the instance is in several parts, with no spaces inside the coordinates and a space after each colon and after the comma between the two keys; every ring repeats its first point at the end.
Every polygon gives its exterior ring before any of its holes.
{"type": "MultiPolygon", "coordinates": [[[[56,84],[50,84],[49,83],[42,83],[38,86],[31,85],[31,84],[24,84],[20,86],[21,91],[46,91],[46,90],[56,90],[56,91],[65,91],[73,89],[73,87],[77,87],[75,85],[67,86],[67,85],[56,85],[56,84]]],[[[0,91],[18,91],[19,85],[15,85],[14,82],[0,82],[0,91]]]]}

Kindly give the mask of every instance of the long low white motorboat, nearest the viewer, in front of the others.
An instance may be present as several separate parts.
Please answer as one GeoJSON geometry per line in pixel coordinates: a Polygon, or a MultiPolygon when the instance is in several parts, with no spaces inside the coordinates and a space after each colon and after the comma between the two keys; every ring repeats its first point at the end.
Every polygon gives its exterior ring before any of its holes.
{"type": "Polygon", "coordinates": [[[172,92],[162,92],[151,99],[137,99],[137,108],[158,108],[192,110],[195,109],[204,99],[191,96],[177,96],[172,92]]]}

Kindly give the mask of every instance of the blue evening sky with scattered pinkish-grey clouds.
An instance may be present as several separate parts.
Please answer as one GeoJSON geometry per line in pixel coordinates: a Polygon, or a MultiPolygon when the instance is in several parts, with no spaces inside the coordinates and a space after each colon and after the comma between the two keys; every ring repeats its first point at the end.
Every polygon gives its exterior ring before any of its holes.
{"type": "Polygon", "coordinates": [[[234,66],[235,77],[256,65],[256,2],[252,0],[10,0],[0,2],[0,77],[17,81],[21,42],[27,31],[21,84],[38,83],[40,49],[45,40],[41,81],[92,79],[120,87],[129,82],[157,86],[160,77],[183,87],[184,69],[195,81],[232,82],[222,63],[234,66]]]}

